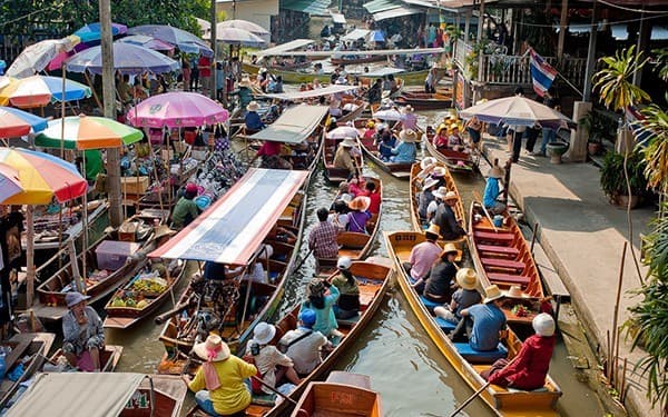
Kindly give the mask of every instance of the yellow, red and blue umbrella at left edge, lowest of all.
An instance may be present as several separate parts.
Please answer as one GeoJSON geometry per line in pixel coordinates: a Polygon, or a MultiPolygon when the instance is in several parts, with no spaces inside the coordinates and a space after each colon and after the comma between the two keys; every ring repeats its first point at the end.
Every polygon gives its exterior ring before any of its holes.
{"type": "Polygon", "coordinates": [[[23,188],[3,205],[48,205],[52,198],[62,202],[81,197],[88,186],[77,167],[48,153],[0,148],[0,163],[18,171],[23,188]]]}

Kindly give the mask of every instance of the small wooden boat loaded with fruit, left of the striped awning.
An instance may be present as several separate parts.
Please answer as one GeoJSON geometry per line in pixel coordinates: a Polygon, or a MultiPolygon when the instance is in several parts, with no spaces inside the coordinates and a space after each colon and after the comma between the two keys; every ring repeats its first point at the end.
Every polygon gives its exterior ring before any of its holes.
{"type": "Polygon", "coordinates": [[[186,262],[178,261],[176,268],[167,275],[163,285],[161,278],[151,275],[137,275],[119,288],[105,306],[107,317],[105,328],[127,329],[156,311],[163,302],[171,297],[174,288],[186,275],[186,262]],[[151,288],[153,287],[153,288],[151,288]],[[134,302],[128,306],[128,298],[134,302]],[[141,302],[145,301],[145,302],[141,302]]]}

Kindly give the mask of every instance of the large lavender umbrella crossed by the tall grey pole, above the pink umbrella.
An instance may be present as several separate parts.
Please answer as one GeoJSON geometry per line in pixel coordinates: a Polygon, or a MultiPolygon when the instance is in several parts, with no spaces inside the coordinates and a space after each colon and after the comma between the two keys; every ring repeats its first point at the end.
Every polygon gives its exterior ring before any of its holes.
{"type": "MultiPolygon", "coordinates": [[[[131,43],[114,43],[114,69],[120,73],[163,73],[180,68],[174,59],[148,48],[131,43]]],[[[67,61],[71,72],[102,73],[102,50],[100,46],[77,53],[67,61]]]]}

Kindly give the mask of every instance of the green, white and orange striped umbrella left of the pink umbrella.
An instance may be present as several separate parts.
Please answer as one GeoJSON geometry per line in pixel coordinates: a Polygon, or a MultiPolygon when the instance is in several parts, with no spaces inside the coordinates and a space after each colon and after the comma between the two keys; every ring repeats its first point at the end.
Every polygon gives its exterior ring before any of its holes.
{"type": "Polygon", "coordinates": [[[49,127],[35,138],[43,148],[101,149],[120,148],[144,138],[140,130],[104,117],[71,116],[49,121],[49,127]],[[62,127],[65,125],[65,136],[62,127]],[[63,142],[61,143],[61,139],[63,142]]]}

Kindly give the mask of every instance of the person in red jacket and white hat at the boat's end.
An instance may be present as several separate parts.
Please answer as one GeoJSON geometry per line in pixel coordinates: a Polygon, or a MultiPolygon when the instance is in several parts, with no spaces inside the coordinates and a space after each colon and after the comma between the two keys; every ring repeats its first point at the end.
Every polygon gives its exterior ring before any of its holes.
{"type": "Polygon", "coordinates": [[[522,344],[522,348],[510,361],[501,358],[490,369],[480,373],[490,384],[531,391],[542,388],[554,350],[554,319],[541,312],[532,320],[536,335],[522,344]]]}

